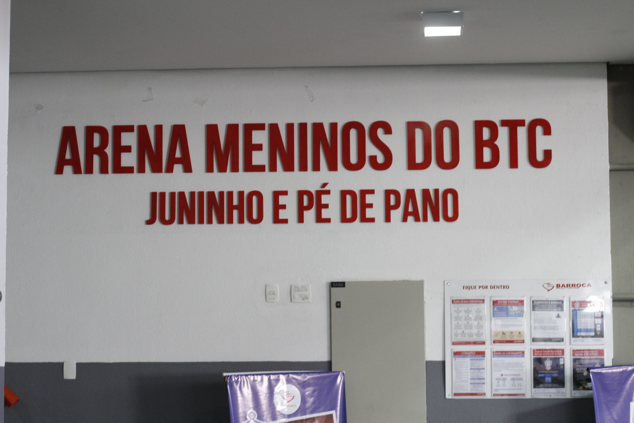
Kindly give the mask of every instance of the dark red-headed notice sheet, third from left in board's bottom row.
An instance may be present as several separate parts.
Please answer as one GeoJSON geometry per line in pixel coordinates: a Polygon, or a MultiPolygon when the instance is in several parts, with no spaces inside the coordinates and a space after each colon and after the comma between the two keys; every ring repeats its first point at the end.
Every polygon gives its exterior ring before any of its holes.
{"type": "Polygon", "coordinates": [[[533,395],[566,396],[564,349],[533,349],[533,395]]]}

